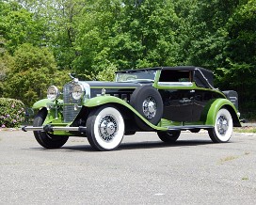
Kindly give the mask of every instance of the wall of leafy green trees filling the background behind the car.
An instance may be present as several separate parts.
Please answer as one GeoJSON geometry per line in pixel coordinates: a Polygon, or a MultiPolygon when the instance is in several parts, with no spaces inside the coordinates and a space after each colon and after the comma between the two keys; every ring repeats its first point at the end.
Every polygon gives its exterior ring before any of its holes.
{"type": "Polygon", "coordinates": [[[0,0],[0,94],[31,104],[68,71],[111,80],[117,70],[195,65],[251,112],[255,10],[255,0],[0,0]]]}

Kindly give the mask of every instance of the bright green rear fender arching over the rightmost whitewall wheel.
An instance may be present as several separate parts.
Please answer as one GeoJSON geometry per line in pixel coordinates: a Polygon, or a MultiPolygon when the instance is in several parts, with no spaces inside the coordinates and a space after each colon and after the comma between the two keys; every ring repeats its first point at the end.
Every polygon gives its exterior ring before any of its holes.
{"type": "Polygon", "coordinates": [[[205,106],[205,110],[203,112],[204,118],[206,118],[205,124],[215,126],[216,113],[222,107],[225,107],[231,113],[234,126],[240,127],[241,124],[240,124],[239,118],[237,116],[237,110],[236,110],[235,106],[233,105],[233,103],[227,99],[216,99],[213,102],[210,102],[208,106],[207,105],[205,106]]]}

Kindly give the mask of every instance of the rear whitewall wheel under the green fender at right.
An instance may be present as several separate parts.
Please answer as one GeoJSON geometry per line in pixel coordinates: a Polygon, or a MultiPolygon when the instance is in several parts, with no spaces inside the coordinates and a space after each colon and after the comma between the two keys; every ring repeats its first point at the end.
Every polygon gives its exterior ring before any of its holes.
{"type": "Polygon", "coordinates": [[[208,130],[213,142],[228,142],[232,136],[232,115],[225,109],[220,109],[216,114],[215,127],[208,130]]]}

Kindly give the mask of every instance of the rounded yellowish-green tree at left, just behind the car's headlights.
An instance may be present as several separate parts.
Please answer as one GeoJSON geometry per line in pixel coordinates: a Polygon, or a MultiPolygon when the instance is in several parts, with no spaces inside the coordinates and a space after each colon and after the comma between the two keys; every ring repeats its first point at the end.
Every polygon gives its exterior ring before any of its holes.
{"type": "Polygon", "coordinates": [[[25,105],[32,105],[45,98],[50,85],[59,86],[64,83],[57,80],[63,76],[63,71],[60,73],[56,70],[54,55],[47,48],[25,43],[15,51],[9,67],[4,82],[4,96],[22,100],[25,105]]]}

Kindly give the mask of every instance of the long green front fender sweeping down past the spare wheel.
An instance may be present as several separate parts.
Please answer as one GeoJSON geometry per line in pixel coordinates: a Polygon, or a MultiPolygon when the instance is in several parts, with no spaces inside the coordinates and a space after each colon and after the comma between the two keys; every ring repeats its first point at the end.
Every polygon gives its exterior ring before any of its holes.
{"type": "Polygon", "coordinates": [[[121,105],[125,106],[126,108],[130,109],[133,113],[136,114],[136,116],[138,118],[141,118],[147,125],[149,125],[153,129],[155,129],[155,130],[167,130],[167,128],[161,128],[161,127],[157,127],[157,126],[153,125],[146,118],[141,116],[136,111],[136,109],[133,106],[131,106],[129,103],[126,103],[125,101],[121,100],[120,98],[117,98],[117,97],[114,97],[114,96],[98,96],[98,97],[87,100],[83,105],[86,106],[86,107],[96,107],[96,106],[99,106],[99,105],[103,105],[105,103],[121,104],[121,105]]]}

